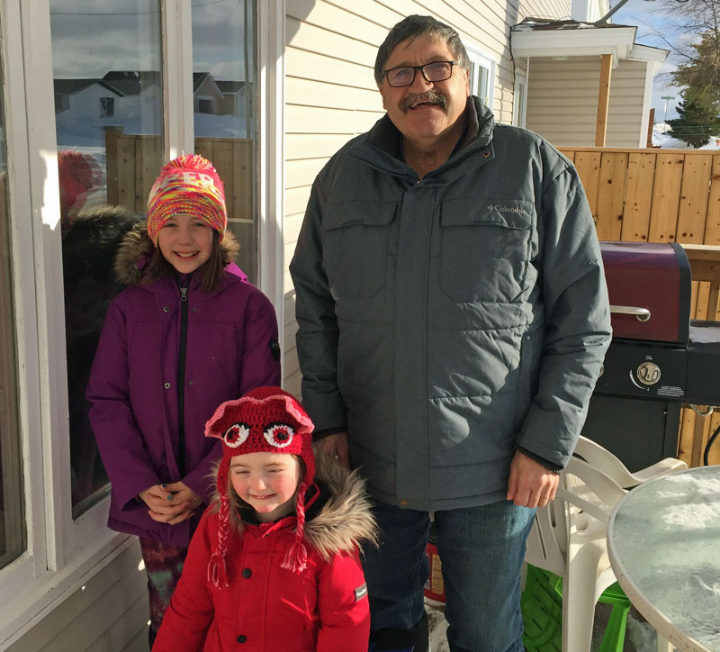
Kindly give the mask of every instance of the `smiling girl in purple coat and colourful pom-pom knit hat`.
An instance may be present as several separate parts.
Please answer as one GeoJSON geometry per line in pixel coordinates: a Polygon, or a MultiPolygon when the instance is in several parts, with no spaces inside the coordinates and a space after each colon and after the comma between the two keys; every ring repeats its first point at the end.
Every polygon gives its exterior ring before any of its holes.
{"type": "Polygon", "coordinates": [[[218,403],[280,384],[272,304],[232,262],[222,182],[188,154],[162,168],[148,222],[123,240],[87,399],[112,484],[108,527],[139,537],[148,573],[150,647],[210,502],[218,403]]]}

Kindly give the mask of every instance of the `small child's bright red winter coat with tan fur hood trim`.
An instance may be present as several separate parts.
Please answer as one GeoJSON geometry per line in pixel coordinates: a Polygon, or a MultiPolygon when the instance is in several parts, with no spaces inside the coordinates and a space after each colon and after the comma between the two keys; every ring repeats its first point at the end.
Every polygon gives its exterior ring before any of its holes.
{"type": "Polygon", "coordinates": [[[316,504],[327,502],[308,509],[309,559],[300,575],[282,567],[294,516],[243,523],[229,540],[229,587],[218,589],[207,577],[218,517],[205,513],[153,652],[367,652],[370,611],[357,543],[374,539],[374,521],[357,475],[337,465],[323,474],[330,495],[321,484],[316,504]]]}

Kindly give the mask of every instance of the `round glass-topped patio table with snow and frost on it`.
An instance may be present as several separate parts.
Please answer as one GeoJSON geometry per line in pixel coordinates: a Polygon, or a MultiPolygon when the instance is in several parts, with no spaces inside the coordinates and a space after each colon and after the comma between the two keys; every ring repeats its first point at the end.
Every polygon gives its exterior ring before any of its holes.
{"type": "Polygon", "coordinates": [[[655,478],[626,494],[608,522],[608,556],[662,638],[682,652],[720,652],[720,466],[655,478]]]}

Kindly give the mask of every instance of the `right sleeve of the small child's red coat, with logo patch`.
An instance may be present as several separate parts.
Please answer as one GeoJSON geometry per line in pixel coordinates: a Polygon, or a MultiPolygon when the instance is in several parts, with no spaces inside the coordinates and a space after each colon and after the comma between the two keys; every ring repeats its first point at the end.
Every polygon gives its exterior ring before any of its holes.
{"type": "Polygon", "coordinates": [[[357,551],[338,554],[320,571],[317,652],[367,652],[370,607],[357,551]]]}

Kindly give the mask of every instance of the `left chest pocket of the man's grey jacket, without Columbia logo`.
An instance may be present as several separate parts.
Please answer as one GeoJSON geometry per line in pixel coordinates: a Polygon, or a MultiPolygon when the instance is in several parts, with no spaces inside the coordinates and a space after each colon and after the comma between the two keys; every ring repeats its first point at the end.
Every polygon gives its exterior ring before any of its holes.
{"type": "Polygon", "coordinates": [[[323,213],[323,262],[335,299],[369,298],[385,285],[395,202],[330,204],[323,213]]]}

